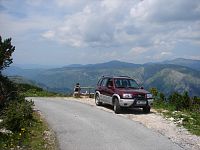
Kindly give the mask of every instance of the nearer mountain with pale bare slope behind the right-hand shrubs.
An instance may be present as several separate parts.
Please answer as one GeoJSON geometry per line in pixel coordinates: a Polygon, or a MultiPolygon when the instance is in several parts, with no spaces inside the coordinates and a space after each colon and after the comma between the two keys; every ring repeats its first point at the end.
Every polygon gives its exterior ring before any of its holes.
{"type": "Polygon", "coordinates": [[[174,91],[188,91],[190,95],[200,96],[200,73],[187,68],[165,67],[149,76],[144,85],[157,87],[167,95],[174,91]]]}

